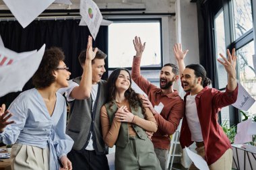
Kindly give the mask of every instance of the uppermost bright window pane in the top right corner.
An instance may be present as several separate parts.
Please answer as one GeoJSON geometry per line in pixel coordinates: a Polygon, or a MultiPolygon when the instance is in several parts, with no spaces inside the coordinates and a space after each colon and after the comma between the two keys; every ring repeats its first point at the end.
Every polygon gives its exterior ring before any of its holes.
{"type": "MultiPolygon", "coordinates": [[[[254,0],[253,0],[254,1],[254,0]]],[[[251,0],[233,0],[235,40],[253,28],[251,0]]]]}

